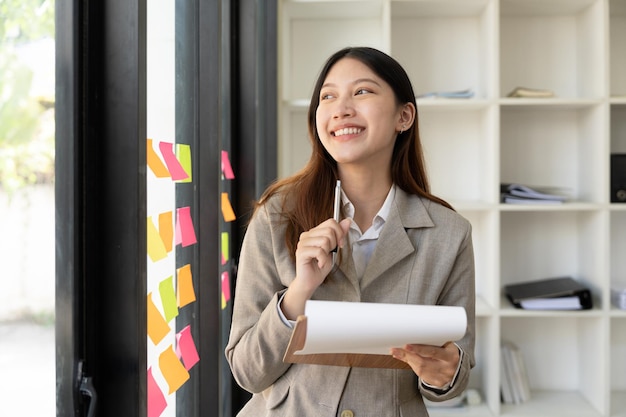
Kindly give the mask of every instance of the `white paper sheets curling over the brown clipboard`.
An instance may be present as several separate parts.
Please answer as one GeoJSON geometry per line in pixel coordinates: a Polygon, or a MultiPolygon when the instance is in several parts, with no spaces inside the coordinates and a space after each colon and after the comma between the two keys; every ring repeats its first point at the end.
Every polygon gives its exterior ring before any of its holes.
{"type": "Polygon", "coordinates": [[[298,355],[368,353],[389,355],[407,343],[442,346],[463,337],[463,307],[315,301],[306,303],[307,334],[298,355]]]}

